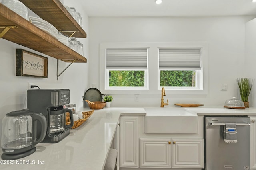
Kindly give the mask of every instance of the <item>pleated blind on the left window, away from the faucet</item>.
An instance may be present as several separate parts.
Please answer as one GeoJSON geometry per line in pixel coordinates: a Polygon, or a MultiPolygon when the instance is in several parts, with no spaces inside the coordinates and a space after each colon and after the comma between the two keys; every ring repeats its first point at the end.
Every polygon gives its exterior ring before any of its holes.
{"type": "Polygon", "coordinates": [[[107,48],[107,69],[147,69],[148,48],[107,48]]]}

